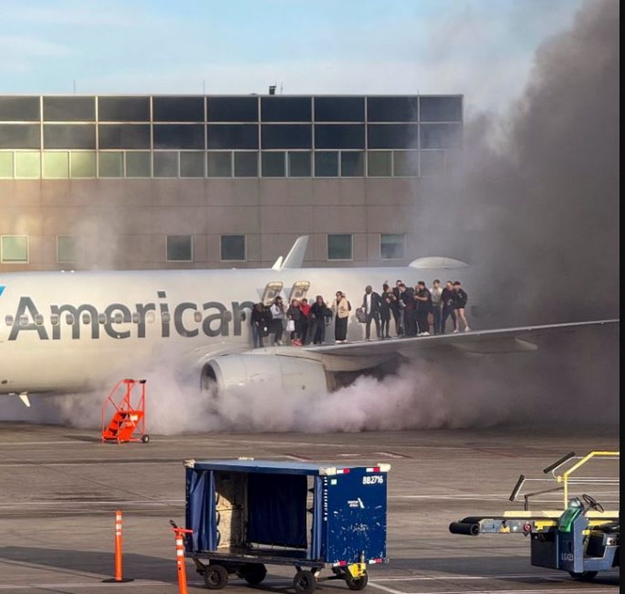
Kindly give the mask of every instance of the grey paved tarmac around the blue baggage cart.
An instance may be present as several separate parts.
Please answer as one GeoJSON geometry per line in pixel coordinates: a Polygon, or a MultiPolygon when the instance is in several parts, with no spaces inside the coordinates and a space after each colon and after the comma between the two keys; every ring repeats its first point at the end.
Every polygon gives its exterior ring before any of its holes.
{"type": "MultiPolygon", "coordinates": [[[[392,465],[389,562],[369,569],[370,594],[616,592],[619,572],[574,581],[531,566],[520,534],[458,536],[448,526],[520,509],[508,501],[519,474],[542,475],[572,450],[618,448],[615,428],[192,434],[117,445],[101,443],[97,431],[0,422],[0,594],[177,593],[168,521],[184,523],[183,460],[238,456],[392,465]],[[124,577],[133,579],[124,584],[103,581],[113,577],[116,509],[124,513],[124,577]]],[[[607,490],[591,494],[615,499],[607,490]]],[[[292,568],[268,570],[257,590],[293,592],[292,568]]],[[[187,572],[190,593],[206,592],[190,561],[187,572]]],[[[224,592],[250,588],[231,577],[224,592]]],[[[318,591],[349,592],[342,581],[321,582],[318,591]]]]}

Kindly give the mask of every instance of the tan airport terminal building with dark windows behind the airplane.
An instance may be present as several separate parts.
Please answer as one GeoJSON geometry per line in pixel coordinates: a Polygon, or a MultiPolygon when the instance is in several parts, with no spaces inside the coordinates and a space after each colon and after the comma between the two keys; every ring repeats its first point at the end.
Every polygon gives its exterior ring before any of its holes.
{"type": "Polygon", "coordinates": [[[419,254],[462,96],[0,96],[0,272],[419,254]]]}

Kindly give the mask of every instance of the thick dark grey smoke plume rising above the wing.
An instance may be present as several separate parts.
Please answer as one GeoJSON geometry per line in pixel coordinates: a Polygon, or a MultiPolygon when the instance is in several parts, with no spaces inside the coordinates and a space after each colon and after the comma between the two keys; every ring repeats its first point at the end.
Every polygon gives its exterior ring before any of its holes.
{"type": "Polygon", "coordinates": [[[542,44],[508,118],[467,122],[462,158],[423,194],[422,247],[478,265],[499,324],[618,317],[619,3],[542,44]]]}

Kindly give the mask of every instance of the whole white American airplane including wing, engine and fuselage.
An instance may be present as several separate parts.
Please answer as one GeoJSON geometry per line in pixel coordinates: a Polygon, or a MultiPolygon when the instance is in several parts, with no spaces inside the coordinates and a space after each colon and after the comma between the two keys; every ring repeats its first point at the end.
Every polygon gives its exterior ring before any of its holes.
{"type": "Polygon", "coordinates": [[[98,390],[137,370],[174,368],[199,390],[224,395],[263,383],[311,394],[403,356],[453,349],[467,354],[537,348],[545,333],[617,324],[599,320],[365,342],[354,312],[365,286],[387,280],[460,279],[471,292],[470,267],[446,257],[417,258],[405,267],[303,268],[308,236],[272,268],[11,272],[0,275],[0,395],[98,390]],[[347,343],[251,348],[249,315],[276,295],[326,299],[342,290],[352,305],[347,343]]]}

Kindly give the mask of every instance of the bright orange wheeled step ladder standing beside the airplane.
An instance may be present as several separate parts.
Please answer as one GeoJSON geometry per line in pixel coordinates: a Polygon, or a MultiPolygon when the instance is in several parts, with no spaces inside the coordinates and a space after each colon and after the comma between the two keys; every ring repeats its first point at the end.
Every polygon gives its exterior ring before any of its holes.
{"type": "Polygon", "coordinates": [[[115,384],[102,405],[102,442],[141,441],[148,443],[149,435],[145,432],[145,388],[144,379],[122,379],[115,384]],[[137,406],[133,406],[131,395],[135,386],[141,386],[141,395],[137,406]],[[124,396],[118,402],[115,396],[120,388],[124,388],[124,396]],[[107,411],[113,406],[113,416],[107,423],[107,411]]]}

